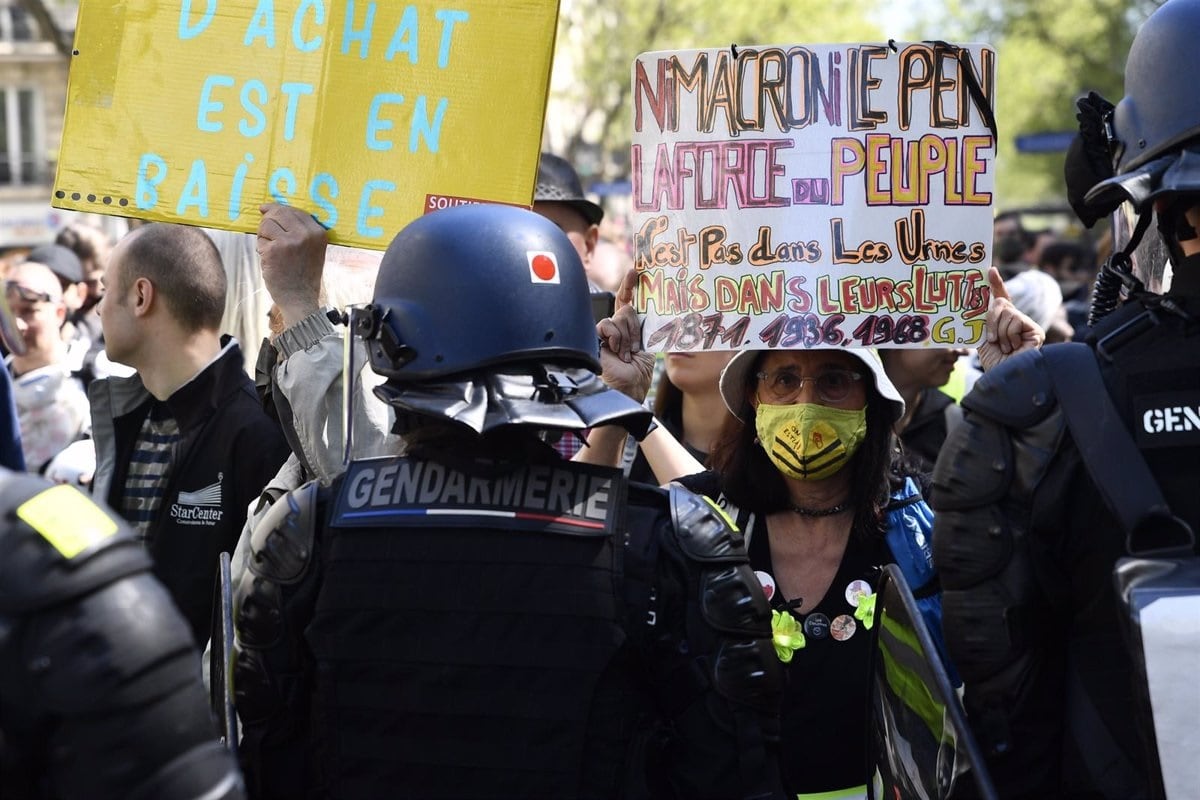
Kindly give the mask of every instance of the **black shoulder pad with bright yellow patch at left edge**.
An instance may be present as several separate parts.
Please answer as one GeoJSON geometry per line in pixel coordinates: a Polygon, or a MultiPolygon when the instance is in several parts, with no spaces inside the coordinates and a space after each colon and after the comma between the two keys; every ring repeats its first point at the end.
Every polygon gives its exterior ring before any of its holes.
{"type": "Polygon", "coordinates": [[[0,470],[0,612],[26,613],[150,570],[125,522],[78,489],[0,470]]]}

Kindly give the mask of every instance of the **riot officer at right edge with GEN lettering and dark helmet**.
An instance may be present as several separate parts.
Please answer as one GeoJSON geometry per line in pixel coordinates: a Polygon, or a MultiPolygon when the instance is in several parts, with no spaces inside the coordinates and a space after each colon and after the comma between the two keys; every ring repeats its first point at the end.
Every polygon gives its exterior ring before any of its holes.
{"type": "Polygon", "coordinates": [[[1196,554],[1198,36],[1200,0],[1170,0],[1134,40],[1124,98],[1080,104],[1067,164],[1076,211],[1132,221],[1116,228],[1086,348],[984,375],[935,471],[946,640],[1003,798],[1162,795],[1114,567],[1196,554]],[[1139,247],[1156,241],[1174,272],[1165,294],[1147,290],[1163,257],[1139,247]]]}

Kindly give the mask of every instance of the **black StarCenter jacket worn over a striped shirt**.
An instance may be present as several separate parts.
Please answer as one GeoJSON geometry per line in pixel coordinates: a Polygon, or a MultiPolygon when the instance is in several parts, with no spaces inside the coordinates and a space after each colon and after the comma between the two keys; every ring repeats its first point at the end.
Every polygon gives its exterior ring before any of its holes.
{"type": "MultiPolygon", "coordinates": [[[[217,557],[233,552],[247,506],[289,452],[242,371],[238,343],[227,337],[223,344],[212,363],[167,398],[181,440],[146,534],[155,573],[200,646],[209,638],[217,557]]],[[[130,457],[152,398],[134,375],[95,380],[89,399],[96,440],[92,491],[120,509],[130,457]]]]}

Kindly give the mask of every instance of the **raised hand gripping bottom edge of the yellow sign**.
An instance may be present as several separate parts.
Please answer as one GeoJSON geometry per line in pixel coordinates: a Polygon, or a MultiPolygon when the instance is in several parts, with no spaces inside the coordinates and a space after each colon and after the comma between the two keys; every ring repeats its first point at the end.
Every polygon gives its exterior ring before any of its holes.
{"type": "Polygon", "coordinates": [[[280,307],[286,326],[295,325],[320,307],[320,276],[329,236],[311,213],[270,203],[259,209],[256,249],[263,283],[280,307]]]}

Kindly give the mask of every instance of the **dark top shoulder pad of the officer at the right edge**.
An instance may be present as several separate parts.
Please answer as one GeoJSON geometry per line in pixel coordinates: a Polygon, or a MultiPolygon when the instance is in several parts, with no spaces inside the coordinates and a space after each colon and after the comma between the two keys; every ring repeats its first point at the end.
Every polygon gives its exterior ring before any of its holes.
{"type": "Polygon", "coordinates": [[[1040,422],[1057,401],[1040,350],[1021,353],[984,373],[962,407],[1010,428],[1040,422]]]}

